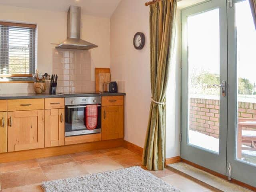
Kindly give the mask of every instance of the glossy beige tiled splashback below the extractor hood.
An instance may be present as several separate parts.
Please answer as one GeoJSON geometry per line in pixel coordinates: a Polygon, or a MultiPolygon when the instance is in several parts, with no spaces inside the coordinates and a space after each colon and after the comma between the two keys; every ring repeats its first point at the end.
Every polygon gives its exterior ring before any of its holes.
{"type": "Polygon", "coordinates": [[[95,91],[91,80],[91,56],[86,50],[53,50],[53,73],[58,74],[57,92],[95,91]]]}

